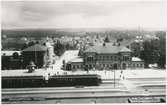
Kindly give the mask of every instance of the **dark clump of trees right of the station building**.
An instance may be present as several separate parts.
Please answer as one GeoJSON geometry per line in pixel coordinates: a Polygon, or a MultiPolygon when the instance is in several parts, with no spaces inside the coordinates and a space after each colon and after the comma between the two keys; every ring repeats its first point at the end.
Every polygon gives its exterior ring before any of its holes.
{"type": "Polygon", "coordinates": [[[159,39],[145,40],[142,45],[133,47],[133,56],[140,57],[145,62],[147,68],[149,64],[157,63],[159,68],[166,65],[166,33],[157,32],[159,39]]]}

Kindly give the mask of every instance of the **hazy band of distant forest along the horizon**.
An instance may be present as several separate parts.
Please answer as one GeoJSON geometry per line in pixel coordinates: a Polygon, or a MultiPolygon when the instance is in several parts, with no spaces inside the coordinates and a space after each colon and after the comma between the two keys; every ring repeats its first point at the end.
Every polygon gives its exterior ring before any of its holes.
{"type": "Polygon", "coordinates": [[[70,31],[68,29],[25,29],[25,30],[2,30],[2,35],[7,35],[9,38],[19,38],[19,37],[62,37],[62,36],[83,36],[83,35],[107,35],[113,38],[124,38],[129,39],[141,34],[153,34],[151,31],[141,31],[141,30],[112,30],[108,29],[104,31],[84,31],[79,29],[75,31],[70,31]]]}

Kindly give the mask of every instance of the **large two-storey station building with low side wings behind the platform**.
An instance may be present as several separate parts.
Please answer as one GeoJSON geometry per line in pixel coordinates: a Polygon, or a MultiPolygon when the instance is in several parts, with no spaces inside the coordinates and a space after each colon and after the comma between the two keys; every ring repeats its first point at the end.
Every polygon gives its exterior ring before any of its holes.
{"type": "Polygon", "coordinates": [[[103,44],[87,48],[83,56],[67,62],[67,70],[73,69],[127,69],[144,68],[144,62],[131,56],[131,50],[119,45],[103,44]],[[135,66],[134,66],[135,65],[135,66]]]}

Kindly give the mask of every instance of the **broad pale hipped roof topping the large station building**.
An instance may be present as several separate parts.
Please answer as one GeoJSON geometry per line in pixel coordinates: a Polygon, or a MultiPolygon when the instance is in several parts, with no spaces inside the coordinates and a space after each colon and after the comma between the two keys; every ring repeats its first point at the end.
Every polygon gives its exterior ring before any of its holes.
{"type": "Polygon", "coordinates": [[[113,46],[113,45],[98,45],[88,48],[85,52],[95,52],[98,54],[110,54],[110,53],[119,53],[119,52],[131,52],[130,49],[124,46],[113,46]]]}

